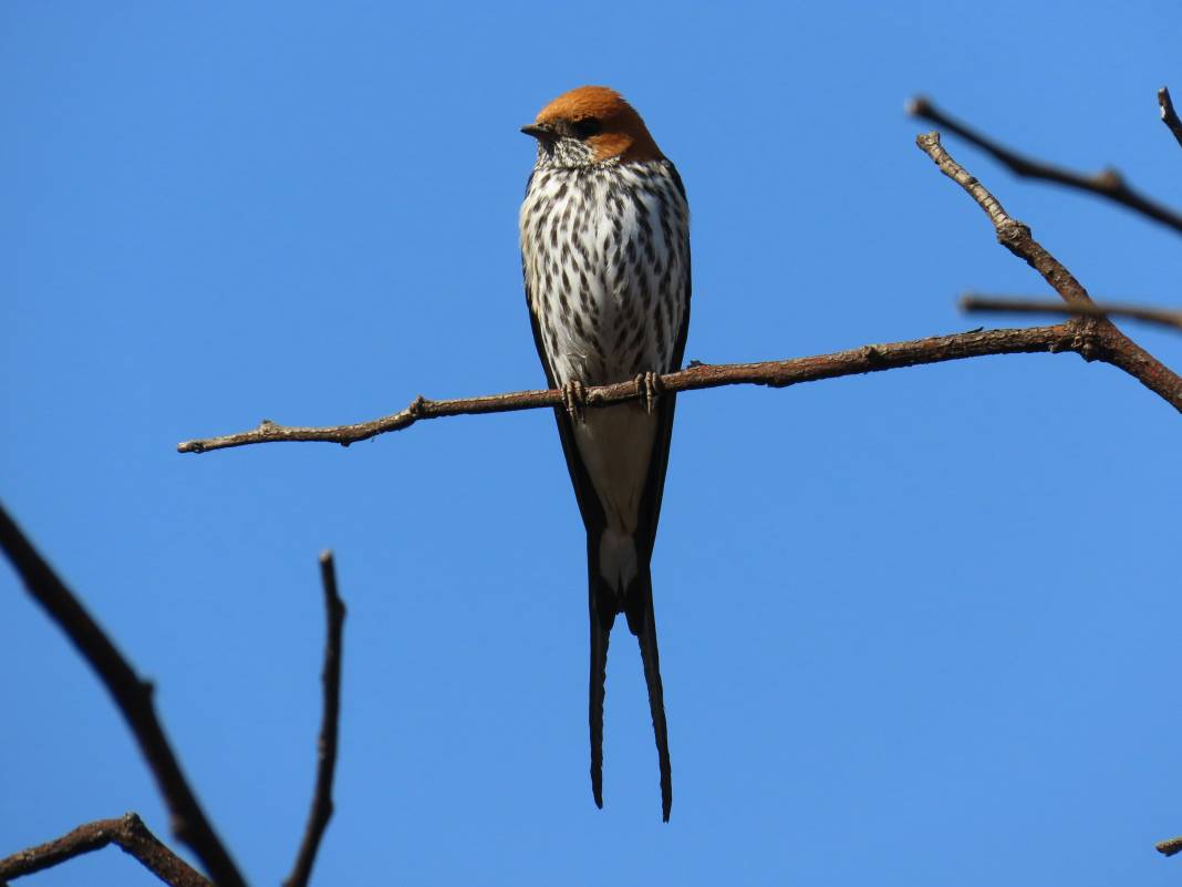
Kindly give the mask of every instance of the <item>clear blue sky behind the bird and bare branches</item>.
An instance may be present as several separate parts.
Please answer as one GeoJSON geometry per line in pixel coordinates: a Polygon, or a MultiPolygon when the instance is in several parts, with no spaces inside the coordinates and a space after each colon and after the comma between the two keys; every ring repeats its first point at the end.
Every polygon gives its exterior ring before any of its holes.
{"type": "MultiPolygon", "coordinates": [[[[177,441],[538,387],[517,212],[558,92],[623,90],[693,208],[687,358],[965,330],[1044,294],[915,147],[927,92],[1182,205],[1176,2],[0,7],[0,497],[137,667],[255,883],[1177,883],[1182,421],[1074,356],[686,395],[655,561],[675,802],[618,630],[587,781],[583,531],[552,417],[342,449],[177,441]],[[900,7],[904,7],[901,9],[900,7]]],[[[1182,241],[954,155],[1098,296],[1182,241]]],[[[1000,318],[1000,323],[1037,322],[1000,318]]],[[[1134,329],[1175,367],[1182,337],[1134,329]]],[[[167,817],[0,569],[0,854],[167,817]]],[[[115,850],[39,885],[154,883],[115,850]]]]}

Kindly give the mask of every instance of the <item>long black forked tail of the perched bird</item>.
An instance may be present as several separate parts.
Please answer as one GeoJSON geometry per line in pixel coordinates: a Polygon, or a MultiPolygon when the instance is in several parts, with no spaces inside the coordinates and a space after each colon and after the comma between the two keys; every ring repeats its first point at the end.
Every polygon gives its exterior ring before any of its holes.
{"type": "MultiPolygon", "coordinates": [[[[591,617],[591,681],[589,699],[589,723],[591,726],[591,792],[597,807],[603,807],[603,703],[604,684],[608,678],[608,641],[621,601],[616,593],[600,578],[598,552],[591,550],[589,570],[589,610],[591,617]]],[[[641,646],[641,662],[644,666],[644,682],[649,689],[649,711],[652,716],[652,732],[657,743],[661,766],[661,815],[669,822],[673,808],[673,770],[669,764],[669,731],[665,725],[664,691],[661,686],[661,658],[657,652],[657,628],[652,615],[652,580],[649,565],[641,565],[638,575],[629,583],[624,595],[623,611],[628,628],[641,646]]]]}

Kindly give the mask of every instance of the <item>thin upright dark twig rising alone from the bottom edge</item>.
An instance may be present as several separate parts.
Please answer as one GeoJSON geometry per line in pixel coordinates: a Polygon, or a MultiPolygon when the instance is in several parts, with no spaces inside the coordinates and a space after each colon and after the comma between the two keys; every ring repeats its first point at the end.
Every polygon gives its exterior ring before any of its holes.
{"type": "Polygon", "coordinates": [[[337,571],[332,564],[332,552],[320,555],[320,583],[324,585],[326,636],[324,641],[324,712],[320,720],[320,738],[317,743],[316,790],[312,809],[309,811],[304,842],[292,873],[284,887],[305,887],[312,874],[316,852],[320,839],[332,818],[332,776],[337,769],[337,726],[340,721],[340,650],[345,622],[345,604],[337,594],[337,571]]]}

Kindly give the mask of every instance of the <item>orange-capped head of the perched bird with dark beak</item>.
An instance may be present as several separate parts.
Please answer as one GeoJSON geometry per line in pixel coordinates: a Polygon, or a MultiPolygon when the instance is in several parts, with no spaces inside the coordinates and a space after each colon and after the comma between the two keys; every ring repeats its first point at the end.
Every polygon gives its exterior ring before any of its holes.
{"type": "Polygon", "coordinates": [[[591,167],[664,156],[636,109],[606,86],[564,92],[521,131],[538,140],[538,166],[591,167]]]}

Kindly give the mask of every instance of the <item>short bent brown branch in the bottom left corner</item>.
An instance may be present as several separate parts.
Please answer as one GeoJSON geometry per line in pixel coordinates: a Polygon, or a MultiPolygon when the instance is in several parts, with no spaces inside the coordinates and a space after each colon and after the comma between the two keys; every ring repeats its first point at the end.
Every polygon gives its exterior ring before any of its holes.
{"type": "Polygon", "coordinates": [[[173,887],[210,887],[209,881],[164,847],[134,812],[118,820],[97,820],[73,831],[0,860],[0,881],[52,868],[84,853],[118,844],[144,868],[173,887]]]}

